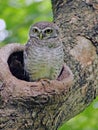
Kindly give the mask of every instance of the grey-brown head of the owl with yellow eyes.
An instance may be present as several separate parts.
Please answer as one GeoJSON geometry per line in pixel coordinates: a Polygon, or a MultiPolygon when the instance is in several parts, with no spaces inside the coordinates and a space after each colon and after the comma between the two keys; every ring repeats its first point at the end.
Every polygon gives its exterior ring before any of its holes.
{"type": "Polygon", "coordinates": [[[31,26],[30,38],[47,40],[59,36],[59,28],[52,22],[38,22],[31,26]]]}

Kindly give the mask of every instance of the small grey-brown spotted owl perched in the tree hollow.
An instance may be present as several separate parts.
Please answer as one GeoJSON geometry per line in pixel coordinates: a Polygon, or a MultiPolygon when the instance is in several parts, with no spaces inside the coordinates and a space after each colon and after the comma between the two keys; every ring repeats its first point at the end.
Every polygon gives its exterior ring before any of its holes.
{"type": "Polygon", "coordinates": [[[24,50],[24,69],[30,81],[57,79],[64,63],[59,28],[52,22],[38,22],[30,27],[24,50]]]}

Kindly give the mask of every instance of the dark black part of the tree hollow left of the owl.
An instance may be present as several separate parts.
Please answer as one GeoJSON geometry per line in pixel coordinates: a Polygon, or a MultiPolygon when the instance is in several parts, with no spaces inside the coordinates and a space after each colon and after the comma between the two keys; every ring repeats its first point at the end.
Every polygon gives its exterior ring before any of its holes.
{"type": "Polygon", "coordinates": [[[16,78],[29,81],[24,71],[23,51],[12,53],[8,58],[8,65],[16,78]]]}

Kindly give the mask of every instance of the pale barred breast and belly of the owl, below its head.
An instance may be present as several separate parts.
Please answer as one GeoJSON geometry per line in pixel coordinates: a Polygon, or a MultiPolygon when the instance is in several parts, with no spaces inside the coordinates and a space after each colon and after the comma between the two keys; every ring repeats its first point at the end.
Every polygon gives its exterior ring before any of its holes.
{"type": "Polygon", "coordinates": [[[31,79],[55,79],[62,68],[63,49],[61,46],[58,48],[32,46],[29,48],[26,62],[26,70],[31,79]]]}

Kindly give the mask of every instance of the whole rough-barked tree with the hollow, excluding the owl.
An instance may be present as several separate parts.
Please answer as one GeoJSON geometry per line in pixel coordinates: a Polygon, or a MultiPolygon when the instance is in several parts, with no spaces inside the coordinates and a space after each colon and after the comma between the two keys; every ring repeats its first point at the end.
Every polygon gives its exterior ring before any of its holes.
{"type": "Polygon", "coordinates": [[[57,80],[28,82],[24,46],[0,49],[1,130],[57,130],[98,95],[98,0],[52,0],[52,5],[66,64],[57,80]]]}

